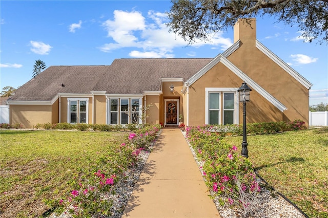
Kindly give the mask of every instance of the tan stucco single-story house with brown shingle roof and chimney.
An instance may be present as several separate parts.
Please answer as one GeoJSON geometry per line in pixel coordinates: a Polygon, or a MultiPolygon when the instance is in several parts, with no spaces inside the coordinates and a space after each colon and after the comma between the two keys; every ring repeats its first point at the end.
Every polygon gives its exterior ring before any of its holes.
{"type": "Polygon", "coordinates": [[[241,123],[243,81],[253,90],[248,123],[301,119],[309,126],[312,84],[256,39],[255,19],[251,27],[239,19],[234,44],[215,58],[49,67],[8,99],[10,123],[127,124],[149,104],[147,123],[178,125],[180,114],[190,126],[241,123]]]}

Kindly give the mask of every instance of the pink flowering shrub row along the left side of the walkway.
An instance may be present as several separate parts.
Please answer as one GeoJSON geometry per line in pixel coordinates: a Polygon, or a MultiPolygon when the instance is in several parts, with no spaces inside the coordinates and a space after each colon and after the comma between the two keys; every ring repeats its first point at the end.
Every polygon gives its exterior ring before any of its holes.
{"type": "Polygon", "coordinates": [[[73,217],[110,217],[113,201],[108,197],[114,194],[115,184],[136,165],[140,152],[155,141],[159,129],[159,125],[147,126],[117,139],[110,149],[97,153],[96,163],[90,163],[92,171],[78,169],[78,175],[69,182],[68,194],[48,201],[48,206],[59,213],[69,207],[73,217]]]}

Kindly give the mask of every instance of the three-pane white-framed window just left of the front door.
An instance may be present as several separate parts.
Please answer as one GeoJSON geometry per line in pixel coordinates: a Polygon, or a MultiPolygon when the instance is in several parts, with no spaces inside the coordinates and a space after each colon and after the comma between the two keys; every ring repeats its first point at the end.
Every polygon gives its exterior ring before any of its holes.
{"type": "Polygon", "coordinates": [[[140,103],[141,98],[110,98],[109,124],[140,123],[140,103]]]}

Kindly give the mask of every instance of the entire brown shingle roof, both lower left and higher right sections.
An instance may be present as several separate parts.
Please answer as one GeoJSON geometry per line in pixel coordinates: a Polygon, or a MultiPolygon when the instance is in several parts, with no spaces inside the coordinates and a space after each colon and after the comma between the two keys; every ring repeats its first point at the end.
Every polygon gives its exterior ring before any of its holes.
{"type": "Polygon", "coordinates": [[[51,66],[9,100],[49,101],[58,93],[143,94],[161,91],[161,78],[189,79],[213,58],[115,59],[110,66],[51,66]],[[63,83],[65,86],[61,86],[63,83]]]}

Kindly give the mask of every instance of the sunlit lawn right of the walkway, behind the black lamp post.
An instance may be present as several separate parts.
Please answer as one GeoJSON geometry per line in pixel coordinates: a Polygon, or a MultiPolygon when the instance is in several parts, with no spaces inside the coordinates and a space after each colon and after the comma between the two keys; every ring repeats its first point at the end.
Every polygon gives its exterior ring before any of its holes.
{"type": "MultiPolygon", "coordinates": [[[[328,128],[247,139],[249,159],[264,180],[309,217],[328,217],[328,128]]],[[[241,147],[242,137],[224,140],[241,147]]]]}

